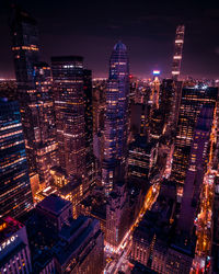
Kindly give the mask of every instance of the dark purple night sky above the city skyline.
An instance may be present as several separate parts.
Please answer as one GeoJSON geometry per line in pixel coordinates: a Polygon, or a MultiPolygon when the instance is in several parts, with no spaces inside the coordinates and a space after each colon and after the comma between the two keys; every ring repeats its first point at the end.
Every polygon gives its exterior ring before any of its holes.
{"type": "MultiPolygon", "coordinates": [[[[82,55],[96,77],[107,76],[114,44],[129,50],[130,71],[169,76],[175,27],[184,23],[182,75],[219,78],[219,1],[20,0],[37,21],[42,59],[82,55]]],[[[13,77],[9,0],[0,0],[0,78],[13,77]]]]}

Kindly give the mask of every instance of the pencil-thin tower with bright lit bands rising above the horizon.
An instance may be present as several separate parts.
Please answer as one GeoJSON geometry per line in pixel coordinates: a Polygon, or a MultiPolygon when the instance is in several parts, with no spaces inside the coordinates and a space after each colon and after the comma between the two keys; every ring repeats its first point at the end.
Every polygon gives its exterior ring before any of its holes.
{"type": "Polygon", "coordinates": [[[181,73],[181,61],[182,61],[182,54],[183,54],[183,43],[184,43],[184,34],[185,34],[185,26],[178,25],[176,27],[175,33],[175,46],[174,46],[174,55],[173,55],[173,64],[172,64],[172,78],[173,80],[177,80],[181,73]]]}

